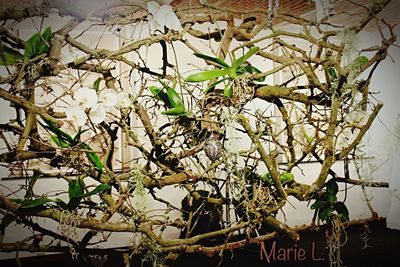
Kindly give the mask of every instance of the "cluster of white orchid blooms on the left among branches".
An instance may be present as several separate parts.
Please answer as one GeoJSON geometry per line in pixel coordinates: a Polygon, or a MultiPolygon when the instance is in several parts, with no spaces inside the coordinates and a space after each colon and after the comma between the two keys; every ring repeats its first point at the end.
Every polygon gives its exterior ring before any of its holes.
{"type": "Polygon", "coordinates": [[[94,124],[101,123],[106,118],[106,112],[111,108],[127,108],[131,101],[125,92],[117,92],[114,89],[104,89],[98,95],[89,87],[79,88],[73,96],[74,101],[65,111],[67,120],[75,127],[86,124],[87,119],[94,124]]]}

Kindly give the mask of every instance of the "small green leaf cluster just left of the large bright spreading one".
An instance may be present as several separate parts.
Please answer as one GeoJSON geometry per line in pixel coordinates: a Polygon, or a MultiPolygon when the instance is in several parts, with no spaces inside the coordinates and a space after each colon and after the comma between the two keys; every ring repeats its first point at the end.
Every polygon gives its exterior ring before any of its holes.
{"type": "Polygon", "coordinates": [[[150,92],[158,99],[164,102],[169,108],[166,111],[161,112],[167,116],[183,116],[187,114],[182,98],[175,91],[174,88],[168,86],[166,83],[160,81],[162,88],[157,86],[150,86],[150,92]]]}

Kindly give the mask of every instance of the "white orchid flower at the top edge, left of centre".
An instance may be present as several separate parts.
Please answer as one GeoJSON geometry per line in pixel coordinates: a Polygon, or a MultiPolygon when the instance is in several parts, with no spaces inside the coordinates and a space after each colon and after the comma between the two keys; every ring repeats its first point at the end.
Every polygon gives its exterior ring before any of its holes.
{"type": "Polygon", "coordinates": [[[169,4],[160,6],[156,1],[149,1],[147,2],[147,9],[152,16],[152,18],[149,19],[150,29],[152,32],[156,29],[162,29],[164,26],[171,30],[183,30],[178,16],[169,4]]]}

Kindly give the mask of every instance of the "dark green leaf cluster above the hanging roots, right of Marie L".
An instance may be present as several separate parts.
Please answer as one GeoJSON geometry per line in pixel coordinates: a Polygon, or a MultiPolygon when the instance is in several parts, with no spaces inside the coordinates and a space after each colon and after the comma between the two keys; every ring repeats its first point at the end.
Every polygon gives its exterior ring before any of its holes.
{"type": "Polygon", "coordinates": [[[325,193],[311,205],[311,209],[315,209],[318,212],[318,218],[321,221],[330,220],[334,216],[334,212],[343,221],[349,220],[349,211],[346,205],[342,201],[337,201],[336,195],[338,191],[337,182],[332,179],[329,180],[325,184],[325,193]]]}

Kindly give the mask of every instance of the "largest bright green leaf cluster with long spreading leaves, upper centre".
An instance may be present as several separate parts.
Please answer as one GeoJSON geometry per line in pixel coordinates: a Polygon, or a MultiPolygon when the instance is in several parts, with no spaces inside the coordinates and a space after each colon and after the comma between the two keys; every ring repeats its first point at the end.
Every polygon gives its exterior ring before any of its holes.
{"type": "MultiPolygon", "coordinates": [[[[250,73],[250,74],[261,73],[261,71],[256,67],[244,64],[251,56],[257,53],[258,50],[260,50],[260,48],[257,46],[250,47],[249,51],[247,51],[247,53],[241,56],[240,58],[236,59],[231,66],[229,66],[224,60],[218,57],[211,57],[200,53],[194,53],[196,57],[204,59],[206,61],[213,62],[220,69],[207,70],[194,73],[186,77],[185,80],[187,82],[204,82],[218,78],[216,82],[212,83],[210,86],[208,86],[206,89],[203,90],[204,93],[208,93],[209,91],[214,89],[218,84],[225,82],[224,95],[226,97],[231,97],[233,94],[232,84],[231,84],[233,79],[245,73],[250,73]]],[[[260,82],[264,81],[264,77],[258,79],[257,81],[260,82]]]]}

